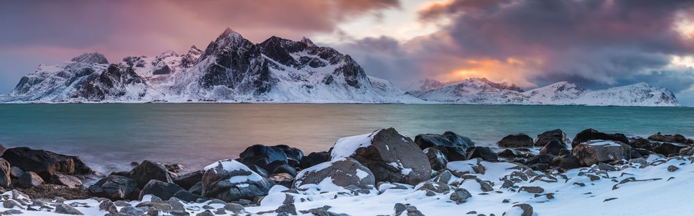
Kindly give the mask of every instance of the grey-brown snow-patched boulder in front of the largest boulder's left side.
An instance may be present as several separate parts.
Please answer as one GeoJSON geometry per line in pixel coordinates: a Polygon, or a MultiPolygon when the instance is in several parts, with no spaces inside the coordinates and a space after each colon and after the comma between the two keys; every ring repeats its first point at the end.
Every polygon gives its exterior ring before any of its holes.
{"type": "Polygon", "coordinates": [[[340,187],[351,185],[369,189],[375,184],[375,175],[369,168],[355,159],[341,158],[301,170],[296,175],[294,186],[300,188],[307,184],[319,184],[325,179],[340,187]]]}

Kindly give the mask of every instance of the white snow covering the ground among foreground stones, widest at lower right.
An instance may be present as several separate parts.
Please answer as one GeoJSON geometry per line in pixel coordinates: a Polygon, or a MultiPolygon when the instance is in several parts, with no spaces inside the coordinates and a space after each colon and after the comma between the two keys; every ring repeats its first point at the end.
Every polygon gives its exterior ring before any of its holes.
{"type": "MultiPolygon", "coordinates": [[[[643,160],[641,160],[643,163],[643,160]]],[[[451,167],[464,167],[464,164],[475,164],[473,161],[453,162],[451,167]]],[[[219,163],[226,166],[223,163],[219,163]]],[[[502,215],[507,212],[520,213],[514,208],[515,204],[530,204],[534,215],[694,215],[691,213],[690,193],[694,191],[694,181],[691,181],[694,172],[692,157],[672,157],[666,159],[662,156],[651,155],[645,159],[645,164],[631,163],[617,166],[618,171],[599,170],[597,165],[591,168],[569,170],[564,173],[542,174],[541,172],[528,172],[530,177],[525,181],[515,184],[518,187],[536,186],[543,188],[541,193],[516,192],[517,189],[502,188],[502,177],[522,171],[518,165],[506,162],[480,161],[484,166],[484,174],[472,173],[471,175],[493,183],[493,191],[483,192],[480,183],[474,178],[459,179],[453,177],[452,185],[468,190],[472,197],[465,203],[456,204],[449,199],[450,193],[437,193],[428,197],[423,190],[416,190],[412,186],[398,187],[396,184],[383,184],[380,191],[369,190],[366,194],[339,187],[302,188],[298,192],[287,190],[283,186],[275,186],[270,194],[261,201],[257,207],[246,207],[248,212],[257,215],[268,210],[275,210],[282,205],[287,195],[294,197],[297,210],[307,210],[322,206],[332,206],[334,213],[346,213],[349,215],[391,215],[396,203],[412,204],[424,215],[464,215],[475,211],[477,214],[502,215]],[[673,170],[672,167],[677,167],[673,170]],[[600,177],[591,181],[589,175],[600,177]],[[552,199],[548,194],[552,194],[552,199]],[[537,195],[537,197],[536,197],[537,195]],[[507,203],[503,202],[508,200],[507,203]]],[[[229,164],[227,164],[229,165],[229,164]]],[[[520,177],[518,177],[520,178],[520,177]]],[[[325,179],[329,183],[332,179],[325,179]]],[[[3,194],[9,197],[11,192],[3,194]]],[[[4,200],[4,199],[3,199],[4,200]]],[[[140,201],[130,201],[135,206],[140,201]]],[[[105,215],[105,211],[98,210],[99,202],[94,199],[70,200],[66,204],[73,204],[77,210],[85,215],[105,215]],[[88,206],[88,207],[87,207],[88,206]]],[[[201,213],[203,204],[185,204],[187,212],[191,215],[201,213]]],[[[221,208],[223,204],[209,204],[213,208],[221,208]]],[[[121,207],[119,207],[120,209],[121,207]]],[[[15,209],[19,209],[15,207],[15,209]]],[[[8,208],[0,208],[0,211],[8,208]]],[[[58,215],[50,212],[28,212],[31,215],[58,215]]],[[[228,212],[230,214],[230,212],[228,212]]],[[[29,215],[29,214],[26,214],[29,215]]],[[[262,215],[277,215],[277,213],[264,213],[262,215]]],[[[300,214],[301,215],[301,214],[300,214]]],[[[310,214],[307,214],[310,215],[310,214]]]]}

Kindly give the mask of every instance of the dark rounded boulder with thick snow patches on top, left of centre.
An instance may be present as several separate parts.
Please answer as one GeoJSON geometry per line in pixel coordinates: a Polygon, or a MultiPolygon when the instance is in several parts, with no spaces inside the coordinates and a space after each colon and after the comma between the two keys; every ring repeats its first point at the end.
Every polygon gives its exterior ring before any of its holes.
{"type": "MultiPolygon", "coordinates": [[[[282,152],[284,154],[284,152],[282,152]]],[[[265,196],[273,184],[234,160],[217,161],[205,167],[202,196],[223,201],[253,200],[265,196]]]]}

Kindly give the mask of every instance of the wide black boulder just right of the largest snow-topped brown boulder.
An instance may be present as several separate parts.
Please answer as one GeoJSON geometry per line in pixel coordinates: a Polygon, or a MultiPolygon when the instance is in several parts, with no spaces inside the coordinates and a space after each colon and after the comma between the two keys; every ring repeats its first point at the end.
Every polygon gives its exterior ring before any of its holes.
{"type": "Polygon", "coordinates": [[[450,161],[467,160],[468,148],[475,146],[470,138],[460,136],[453,132],[439,134],[419,134],[414,137],[414,143],[422,149],[428,147],[441,151],[450,161]]]}

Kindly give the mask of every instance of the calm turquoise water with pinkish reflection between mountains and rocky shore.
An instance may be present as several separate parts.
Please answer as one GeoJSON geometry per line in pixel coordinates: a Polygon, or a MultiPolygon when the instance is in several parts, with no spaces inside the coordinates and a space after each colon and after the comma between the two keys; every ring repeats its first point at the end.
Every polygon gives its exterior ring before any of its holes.
{"type": "Polygon", "coordinates": [[[0,143],[76,154],[101,172],[130,161],[183,163],[191,170],[235,158],[248,145],[328,150],[338,138],[395,127],[402,134],[448,130],[478,145],[507,134],[536,136],[588,127],[627,136],[694,136],[694,109],[498,105],[81,104],[0,105],[0,143]]]}

